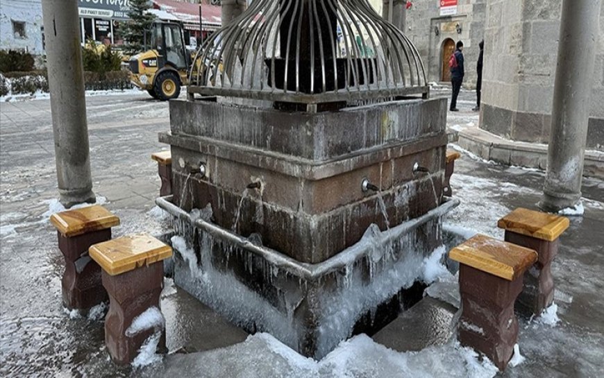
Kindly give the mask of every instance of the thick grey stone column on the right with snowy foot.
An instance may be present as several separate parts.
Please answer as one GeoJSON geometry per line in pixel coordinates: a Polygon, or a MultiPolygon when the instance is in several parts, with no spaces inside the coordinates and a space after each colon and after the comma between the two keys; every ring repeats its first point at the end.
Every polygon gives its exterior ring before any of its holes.
{"type": "Polygon", "coordinates": [[[581,198],[600,3],[562,2],[548,167],[539,203],[550,212],[574,207],[581,198]]]}

